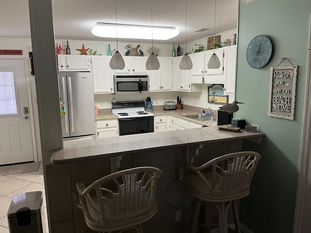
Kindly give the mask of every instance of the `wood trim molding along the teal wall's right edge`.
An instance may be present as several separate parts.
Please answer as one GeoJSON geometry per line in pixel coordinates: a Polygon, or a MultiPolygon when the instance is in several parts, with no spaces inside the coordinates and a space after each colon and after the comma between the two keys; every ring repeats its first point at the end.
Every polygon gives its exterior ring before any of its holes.
{"type": "MultiPolygon", "coordinates": [[[[310,155],[311,142],[311,15],[309,17],[309,56],[308,56],[308,73],[306,79],[306,99],[305,113],[302,129],[302,142],[300,149],[300,167],[298,174],[298,184],[296,193],[296,205],[294,213],[293,232],[301,232],[303,209],[305,204],[305,193],[307,185],[308,164],[310,155]]],[[[310,167],[311,168],[311,167],[310,167]]]]}

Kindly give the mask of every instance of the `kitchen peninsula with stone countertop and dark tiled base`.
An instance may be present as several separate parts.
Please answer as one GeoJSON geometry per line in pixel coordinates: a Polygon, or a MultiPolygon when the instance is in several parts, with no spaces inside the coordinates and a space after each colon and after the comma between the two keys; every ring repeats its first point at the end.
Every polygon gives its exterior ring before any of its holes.
{"type": "Polygon", "coordinates": [[[52,229],[53,225],[66,222],[68,228],[73,229],[68,232],[87,231],[82,211],[77,207],[76,182],[89,185],[117,169],[155,166],[164,176],[156,191],[157,214],[143,225],[145,232],[190,232],[194,197],[178,184],[182,164],[190,160],[195,151],[200,152],[195,156],[194,165],[241,151],[243,139],[259,143],[262,136],[261,132],[232,133],[213,126],[64,142],[64,149],[52,151],[53,164],[47,166],[47,179],[51,180],[48,191],[52,229]],[[196,150],[198,148],[202,149],[196,150]],[[181,221],[175,221],[176,210],[182,210],[181,221]]]}

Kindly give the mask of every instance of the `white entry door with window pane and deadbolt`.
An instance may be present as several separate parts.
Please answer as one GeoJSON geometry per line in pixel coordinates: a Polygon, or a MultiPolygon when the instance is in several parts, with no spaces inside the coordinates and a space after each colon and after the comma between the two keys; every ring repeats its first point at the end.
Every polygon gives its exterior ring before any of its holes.
{"type": "Polygon", "coordinates": [[[0,60],[0,165],[34,161],[25,61],[0,60]]]}

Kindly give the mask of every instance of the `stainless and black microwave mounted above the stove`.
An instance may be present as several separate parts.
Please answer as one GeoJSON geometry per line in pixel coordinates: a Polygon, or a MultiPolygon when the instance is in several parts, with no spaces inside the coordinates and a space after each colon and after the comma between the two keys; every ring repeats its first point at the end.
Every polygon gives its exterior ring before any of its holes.
{"type": "Polygon", "coordinates": [[[149,76],[144,75],[118,75],[113,76],[116,95],[131,95],[148,93],[149,76]]]}

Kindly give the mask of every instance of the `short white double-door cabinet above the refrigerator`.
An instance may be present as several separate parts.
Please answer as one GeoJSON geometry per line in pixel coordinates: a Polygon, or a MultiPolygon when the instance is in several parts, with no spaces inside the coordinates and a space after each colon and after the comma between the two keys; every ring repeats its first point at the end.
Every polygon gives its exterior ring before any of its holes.
{"type": "Polygon", "coordinates": [[[90,56],[58,55],[58,70],[60,71],[91,71],[90,56]]]}

